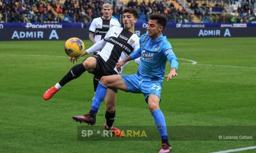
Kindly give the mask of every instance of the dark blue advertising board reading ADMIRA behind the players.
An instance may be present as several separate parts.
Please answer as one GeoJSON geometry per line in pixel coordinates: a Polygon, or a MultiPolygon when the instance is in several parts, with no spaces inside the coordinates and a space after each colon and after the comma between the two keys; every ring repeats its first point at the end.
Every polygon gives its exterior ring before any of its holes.
{"type": "MultiPolygon", "coordinates": [[[[138,36],[147,33],[145,28],[136,28],[138,36]]],[[[228,38],[228,37],[256,37],[256,27],[166,27],[163,35],[167,38],[228,38]]],[[[0,29],[0,41],[11,40],[67,40],[71,37],[88,40],[88,28],[63,29],[28,29],[4,28],[0,29]]]]}

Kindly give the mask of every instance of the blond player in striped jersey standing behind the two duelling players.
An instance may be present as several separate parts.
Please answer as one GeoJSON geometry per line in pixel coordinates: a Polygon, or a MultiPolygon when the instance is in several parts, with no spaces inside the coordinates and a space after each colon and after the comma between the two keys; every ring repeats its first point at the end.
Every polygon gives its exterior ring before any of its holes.
{"type": "MultiPolygon", "coordinates": [[[[102,40],[106,33],[108,33],[109,28],[116,26],[120,27],[120,23],[118,20],[112,17],[113,13],[113,7],[111,4],[106,3],[102,5],[102,17],[94,18],[92,20],[92,24],[89,28],[89,39],[92,41],[93,44],[97,43],[98,41],[102,40]]],[[[97,50],[93,53],[93,55],[96,55],[100,50],[97,50]]],[[[93,87],[94,92],[97,89],[97,86],[99,84],[99,78],[93,76],[93,87]]]]}

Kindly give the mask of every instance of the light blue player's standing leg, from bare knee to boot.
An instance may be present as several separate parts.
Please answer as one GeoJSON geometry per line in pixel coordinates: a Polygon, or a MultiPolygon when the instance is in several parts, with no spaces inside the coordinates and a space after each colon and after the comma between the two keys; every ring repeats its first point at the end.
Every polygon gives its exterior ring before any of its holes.
{"type": "Polygon", "coordinates": [[[162,139],[162,149],[159,150],[159,153],[171,152],[172,147],[168,142],[166,122],[163,112],[159,108],[159,101],[160,99],[155,94],[150,94],[148,96],[148,108],[154,117],[155,124],[162,139]]]}

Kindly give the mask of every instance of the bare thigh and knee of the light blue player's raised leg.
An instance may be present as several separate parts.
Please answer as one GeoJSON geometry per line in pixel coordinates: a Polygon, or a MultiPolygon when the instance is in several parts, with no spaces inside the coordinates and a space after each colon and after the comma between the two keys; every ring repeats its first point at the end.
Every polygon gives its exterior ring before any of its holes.
{"type": "Polygon", "coordinates": [[[121,89],[122,91],[127,91],[127,87],[124,80],[120,75],[109,75],[100,78],[100,83],[106,85],[107,87],[114,87],[121,89]]]}

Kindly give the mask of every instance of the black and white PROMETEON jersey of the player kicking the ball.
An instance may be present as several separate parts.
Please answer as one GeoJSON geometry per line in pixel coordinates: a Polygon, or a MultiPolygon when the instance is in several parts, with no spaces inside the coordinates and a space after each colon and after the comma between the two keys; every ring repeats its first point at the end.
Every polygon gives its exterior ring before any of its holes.
{"type": "Polygon", "coordinates": [[[121,72],[116,69],[116,63],[140,48],[140,38],[123,27],[112,27],[104,37],[104,41],[107,43],[98,55],[106,62],[108,68],[112,68],[120,74],[121,72]]]}

